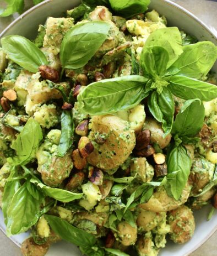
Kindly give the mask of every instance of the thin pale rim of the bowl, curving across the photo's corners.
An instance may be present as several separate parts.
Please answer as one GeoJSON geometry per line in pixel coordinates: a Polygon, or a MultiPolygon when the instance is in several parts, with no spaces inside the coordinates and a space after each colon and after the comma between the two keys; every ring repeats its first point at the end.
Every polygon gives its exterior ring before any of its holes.
{"type": "MultiPolygon", "coordinates": [[[[30,9],[28,9],[27,11],[25,11],[23,14],[19,15],[18,18],[15,18],[13,20],[12,23],[10,23],[1,33],[0,33],[0,39],[4,36],[4,34],[6,34],[8,32],[8,30],[12,27],[14,27],[14,25],[19,22],[19,20],[23,19],[24,17],[26,17],[26,15],[28,15],[31,12],[34,12],[35,9],[41,7],[41,6],[45,6],[46,4],[52,2],[53,0],[45,0],[39,4],[36,4],[36,6],[31,7],[30,9]]],[[[186,15],[188,15],[189,17],[193,18],[194,20],[196,20],[196,22],[202,26],[205,30],[207,30],[207,32],[213,36],[213,38],[215,40],[217,40],[217,34],[214,34],[210,27],[208,27],[208,25],[206,25],[204,22],[202,22],[202,20],[200,20],[196,15],[194,15],[193,13],[189,12],[187,9],[185,9],[184,7],[180,6],[179,4],[172,2],[170,0],[161,0],[162,2],[165,2],[166,4],[168,4],[169,6],[175,7],[176,9],[178,9],[179,11],[185,13],[186,15]]],[[[2,226],[0,226],[0,230],[6,234],[6,231],[4,230],[4,228],[2,226]]],[[[203,243],[205,243],[211,236],[213,236],[213,234],[215,233],[215,231],[217,231],[217,223],[216,226],[212,229],[212,231],[207,235],[207,237],[205,237],[199,244],[195,245],[189,252],[187,252],[185,255],[183,256],[189,256],[191,253],[195,252],[203,243]]],[[[8,237],[14,244],[16,244],[18,247],[21,247],[21,244],[13,237],[8,237]]]]}

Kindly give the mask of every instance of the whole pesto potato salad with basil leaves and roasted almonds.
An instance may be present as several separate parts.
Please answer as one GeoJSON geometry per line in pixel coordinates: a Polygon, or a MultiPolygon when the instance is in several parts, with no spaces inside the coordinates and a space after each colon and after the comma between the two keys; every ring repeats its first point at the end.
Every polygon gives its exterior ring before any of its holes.
{"type": "Polygon", "coordinates": [[[0,205],[24,256],[156,256],[217,208],[217,47],[149,2],[84,0],[1,39],[0,205]]]}

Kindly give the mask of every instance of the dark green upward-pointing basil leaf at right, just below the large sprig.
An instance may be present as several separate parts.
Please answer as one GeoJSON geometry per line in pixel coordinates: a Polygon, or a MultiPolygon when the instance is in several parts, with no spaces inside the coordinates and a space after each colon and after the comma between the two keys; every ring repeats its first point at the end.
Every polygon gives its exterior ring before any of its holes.
{"type": "Polygon", "coordinates": [[[193,137],[200,131],[203,122],[203,103],[198,99],[188,100],[177,114],[171,133],[178,134],[180,138],[193,137]]]}

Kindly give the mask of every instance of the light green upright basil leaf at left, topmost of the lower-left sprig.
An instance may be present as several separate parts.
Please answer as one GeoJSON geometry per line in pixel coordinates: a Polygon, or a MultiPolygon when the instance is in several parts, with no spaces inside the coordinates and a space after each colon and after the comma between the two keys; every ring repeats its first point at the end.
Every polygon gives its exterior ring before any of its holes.
{"type": "Polygon", "coordinates": [[[39,148],[39,144],[43,138],[40,124],[33,118],[29,118],[23,130],[21,130],[17,139],[12,144],[12,148],[16,150],[17,156],[8,158],[12,165],[26,165],[39,148]],[[34,135],[32,135],[34,134],[34,135]]]}

